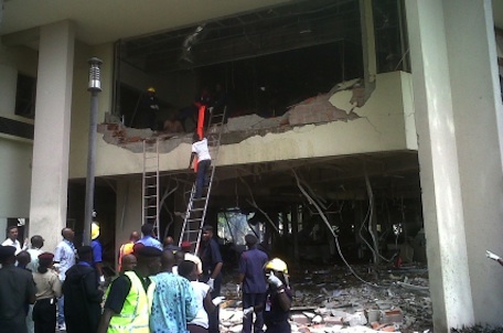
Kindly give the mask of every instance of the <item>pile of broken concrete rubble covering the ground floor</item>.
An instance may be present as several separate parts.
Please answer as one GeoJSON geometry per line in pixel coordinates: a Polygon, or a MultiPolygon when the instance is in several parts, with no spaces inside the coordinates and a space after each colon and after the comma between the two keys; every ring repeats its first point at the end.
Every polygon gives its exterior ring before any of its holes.
{"type": "MultiPolygon", "coordinates": [[[[292,332],[429,332],[427,270],[345,267],[292,272],[292,332]]],[[[233,282],[223,286],[221,332],[242,332],[243,309],[233,282]]]]}

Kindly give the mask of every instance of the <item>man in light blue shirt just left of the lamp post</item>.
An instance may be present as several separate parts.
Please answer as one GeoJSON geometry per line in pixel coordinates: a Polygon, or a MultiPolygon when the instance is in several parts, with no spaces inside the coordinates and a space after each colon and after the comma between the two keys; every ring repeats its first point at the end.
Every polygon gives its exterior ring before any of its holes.
{"type": "MultiPolygon", "coordinates": [[[[60,241],[56,246],[56,250],[54,251],[54,264],[56,264],[55,266],[60,272],[60,281],[63,284],[66,278],[66,271],[76,264],[75,246],[73,244],[75,233],[71,228],[63,228],[63,230],[61,230],[61,235],[63,236],[63,240],[60,241]]],[[[62,296],[57,300],[57,327],[60,331],[66,331],[63,309],[64,297],[62,296]]]]}

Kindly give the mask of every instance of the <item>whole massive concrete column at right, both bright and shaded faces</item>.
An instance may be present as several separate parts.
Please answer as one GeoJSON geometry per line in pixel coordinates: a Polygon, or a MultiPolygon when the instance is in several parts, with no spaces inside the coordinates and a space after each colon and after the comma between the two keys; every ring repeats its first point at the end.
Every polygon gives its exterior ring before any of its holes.
{"type": "Polygon", "coordinates": [[[436,331],[501,325],[502,103],[491,1],[408,1],[436,331]]]}

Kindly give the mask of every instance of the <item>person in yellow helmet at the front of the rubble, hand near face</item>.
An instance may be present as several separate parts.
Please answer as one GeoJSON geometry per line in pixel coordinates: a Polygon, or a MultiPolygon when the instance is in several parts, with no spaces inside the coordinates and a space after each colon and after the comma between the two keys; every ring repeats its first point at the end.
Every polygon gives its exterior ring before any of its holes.
{"type": "Polygon", "coordinates": [[[253,315],[252,312],[264,311],[264,322],[267,326],[266,333],[291,333],[288,322],[292,291],[288,282],[287,264],[274,258],[264,265],[269,287],[266,292],[266,302],[261,305],[250,307],[243,310],[243,315],[253,315]]]}

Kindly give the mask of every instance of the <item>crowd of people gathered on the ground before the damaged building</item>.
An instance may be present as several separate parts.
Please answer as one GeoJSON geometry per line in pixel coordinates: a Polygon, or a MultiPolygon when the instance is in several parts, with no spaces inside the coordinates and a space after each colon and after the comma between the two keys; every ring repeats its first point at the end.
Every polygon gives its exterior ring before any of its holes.
{"type": "MultiPolygon", "coordinates": [[[[105,286],[97,224],[90,246],[76,247],[74,232],[64,228],[54,253],[42,250],[41,235],[21,245],[18,228],[9,227],[0,246],[0,333],[218,333],[224,262],[213,227],[202,232],[194,254],[195,244],[179,247],[171,236],[161,244],[153,226],[142,225],[142,237],[132,232],[120,247],[119,273],[105,286]]],[[[289,333],[287,265],[257,249],[255,235],[245,241],[236,287],[243,332],[289,333]]]]}

